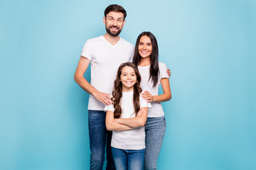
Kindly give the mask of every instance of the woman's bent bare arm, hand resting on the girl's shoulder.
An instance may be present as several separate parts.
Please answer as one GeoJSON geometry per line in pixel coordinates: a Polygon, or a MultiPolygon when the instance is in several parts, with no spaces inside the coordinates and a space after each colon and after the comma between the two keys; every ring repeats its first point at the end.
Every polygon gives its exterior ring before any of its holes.
{"type": "Polygon", "coordinates": [[[169,84],[169,79],[168,78],[162,78],[160,80],[161,86],[163,88],[164,94],[158,95],[158,96],[152,96],[149,91],[144,91],[142,94],[142,97],[147,101],[147,102],[164,102],[164,101],[169,101],[171,100],[171,88],[169,84]]]}

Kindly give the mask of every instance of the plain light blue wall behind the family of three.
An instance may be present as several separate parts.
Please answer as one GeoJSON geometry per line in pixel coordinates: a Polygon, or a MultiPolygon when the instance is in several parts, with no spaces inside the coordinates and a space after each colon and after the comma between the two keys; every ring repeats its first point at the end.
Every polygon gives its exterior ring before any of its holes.
{"type": "Polygon", "coordinates": [[[250,0],[0,0],[0,169],[89,169],[88,94],[73,75],[110,4],[127,10],[122,38],[150,30],[171,69],[159,169],[256,169],[250,0]]]}

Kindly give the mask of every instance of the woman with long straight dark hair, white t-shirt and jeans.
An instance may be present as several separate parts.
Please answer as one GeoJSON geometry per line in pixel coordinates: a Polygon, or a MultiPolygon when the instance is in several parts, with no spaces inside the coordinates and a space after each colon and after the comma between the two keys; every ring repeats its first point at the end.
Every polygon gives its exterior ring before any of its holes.
{"type": "Polygon", "coordinates": [[[166,64],[158,61],[158,45],[155,36],[150,32],[143,32],[137,38],[133,63],[138,66],[142,75],[142,97],[151,103],[146,120],[146,152],[145,169],[156,169],[157,158],[161,149],[166,129],[166,120],[161,102],[171,99],[169,75],[166,64]],[[164,94],[159,95],[161,84],[164,94]]]}

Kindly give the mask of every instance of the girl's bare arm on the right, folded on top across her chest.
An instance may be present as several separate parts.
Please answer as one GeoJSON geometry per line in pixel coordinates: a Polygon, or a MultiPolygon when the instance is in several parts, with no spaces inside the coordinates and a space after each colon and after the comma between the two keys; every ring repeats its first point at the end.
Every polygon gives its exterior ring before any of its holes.
{"type": "Polygon", "coordinates": [[[142,114],[135,118],[117,118],[114,119],[115,123],[120,123],[122,125],[127,125],[132,128],[139,128],[141,126],[144,126],[146,123],[147,113],[148,113],[147,107],[141,108],[142,114]]]}

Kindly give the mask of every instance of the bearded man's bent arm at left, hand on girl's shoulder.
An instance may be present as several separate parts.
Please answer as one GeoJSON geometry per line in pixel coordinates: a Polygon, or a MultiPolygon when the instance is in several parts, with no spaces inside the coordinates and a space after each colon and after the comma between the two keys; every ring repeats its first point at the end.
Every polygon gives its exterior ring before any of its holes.
{"type": "Polygon", "coordinates": [[[78,62],[78,67],[75,70],[75,82],[79,84],[82,89],[84,89],[88,94],[91,94],[92,96],[95,96],[95,98],[102,102],[105,105],[112,104],[110,94],[105,94],[100,91],[97,91],[94,86],[92,86],[84,76],[88,66],[90,64],[90,60],[88,60],[86,57],[80,57],[80,60],[78,62]]]}

